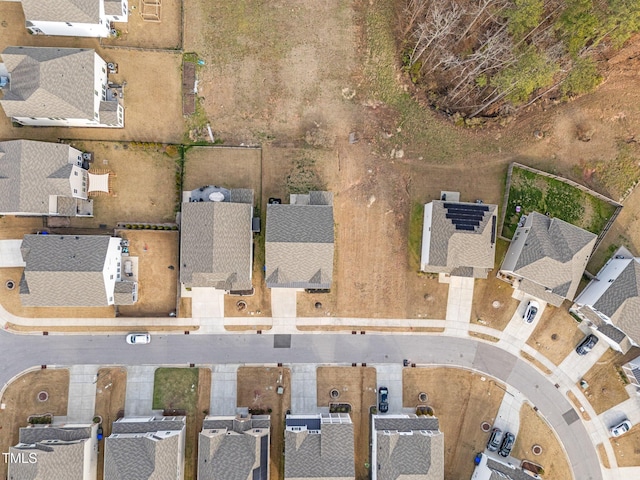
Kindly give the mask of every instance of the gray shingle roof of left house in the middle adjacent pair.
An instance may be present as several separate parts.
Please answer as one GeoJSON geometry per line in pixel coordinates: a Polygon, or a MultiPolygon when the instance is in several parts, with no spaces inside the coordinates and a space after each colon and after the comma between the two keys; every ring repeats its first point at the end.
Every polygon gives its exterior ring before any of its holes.
{"type": "Polygon", "coordinates": [[[247,203],[184,203],[180,281],[189,287],[251,290],[251,215],[247,203]]]}

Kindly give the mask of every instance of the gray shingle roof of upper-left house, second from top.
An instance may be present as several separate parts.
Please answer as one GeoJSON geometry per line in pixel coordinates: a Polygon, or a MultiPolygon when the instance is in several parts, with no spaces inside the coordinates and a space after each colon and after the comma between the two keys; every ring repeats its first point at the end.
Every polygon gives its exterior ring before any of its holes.
{"type": "Polygon", "coordinates": [[[94,50],[7,47],[2,60],[11,75],[0,100],[8,117],[95,119],[94,50]]]}

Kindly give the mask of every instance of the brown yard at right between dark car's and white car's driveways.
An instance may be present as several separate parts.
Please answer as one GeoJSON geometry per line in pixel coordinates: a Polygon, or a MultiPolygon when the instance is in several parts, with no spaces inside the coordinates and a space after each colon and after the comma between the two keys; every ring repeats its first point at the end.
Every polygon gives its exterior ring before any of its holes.
{"type": "Polygon", "coordinates": [[[622,354],[610,348],[583,377],[589,384],[584,394],[597,414],[629,398],[617,370],[617,366],[624,363],[621,362],[622,358],[622,354]]]}

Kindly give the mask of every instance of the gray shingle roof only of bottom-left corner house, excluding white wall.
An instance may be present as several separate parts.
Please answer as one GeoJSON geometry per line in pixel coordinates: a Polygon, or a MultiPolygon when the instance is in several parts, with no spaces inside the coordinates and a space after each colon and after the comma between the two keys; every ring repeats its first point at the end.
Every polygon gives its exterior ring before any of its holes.
{"type": "Polygon", "coordinates": [[[35,453],[37,461],[33,464],[10,463],[9,480],[83,480],[83,468],[89,462],[84,455],[84,443],[91,434],[91,427],[21,428],[20,444],[11,447],[10,451],[27,456],[35,453]]]}

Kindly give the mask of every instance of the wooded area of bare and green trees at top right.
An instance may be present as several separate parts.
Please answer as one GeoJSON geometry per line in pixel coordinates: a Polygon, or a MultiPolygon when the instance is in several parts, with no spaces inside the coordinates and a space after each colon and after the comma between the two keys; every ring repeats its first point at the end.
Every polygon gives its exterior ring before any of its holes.
{"type": "Polygon", "coordinates": [[[405,0],[403,66],[439,109],[511,115],[602,81],[602,53],[640,30],[638,0],[405,0]]]}

